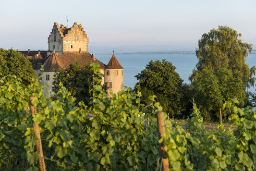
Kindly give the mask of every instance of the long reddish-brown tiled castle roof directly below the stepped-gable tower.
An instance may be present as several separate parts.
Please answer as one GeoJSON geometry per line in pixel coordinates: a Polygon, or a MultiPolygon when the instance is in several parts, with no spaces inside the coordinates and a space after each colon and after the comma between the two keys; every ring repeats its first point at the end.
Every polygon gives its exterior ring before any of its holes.
{"type": "Polygon", "coordinates": [[[47,64],[44,67],[44,71],[53,71],[53,69],[58,68],[69,68],[70,63],[80,63],[84,65],[86,63],[99,63],[100,69],[105,69],[106,65],[100,62],[100,60],[93,59],[92,55],[88,52],[79,53],[70,53],[66,52],[64,54],[53,53],[50,56],[47,64]]]}

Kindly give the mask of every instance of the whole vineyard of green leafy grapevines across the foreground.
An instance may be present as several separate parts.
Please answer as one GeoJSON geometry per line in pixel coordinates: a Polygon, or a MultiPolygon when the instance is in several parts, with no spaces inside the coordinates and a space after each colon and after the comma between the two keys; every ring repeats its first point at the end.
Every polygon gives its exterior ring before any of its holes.
{"type": "Polygon", "coordinates": [[[131,89],[109,98],[94,84],[101,82],[99,66],[91,67],[90,107],[76,104],[64,87],[51,100],[37,81],[24,87],[16,76],[0,80],[0,170],[40,170],[35,124],[46,170],[256,170],[256,112],[249,107],[236,107],[236,99],[226,102],[223,108],[237,129],[220,125],[206,131],[193,104],[186,128],[165,118],[159,137],[155,118],[162,107],[155,96],[147,106],[131,89]]]}

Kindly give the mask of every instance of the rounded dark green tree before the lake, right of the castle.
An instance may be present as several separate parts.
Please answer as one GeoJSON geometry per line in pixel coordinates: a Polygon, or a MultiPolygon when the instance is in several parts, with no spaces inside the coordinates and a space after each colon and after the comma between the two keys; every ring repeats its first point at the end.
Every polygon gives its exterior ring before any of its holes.
{"type": "Polygon", "coordinates": [[[150,95],[156,95],[163,110],[170,114],[179,113],[181,110],[182,81],[172,63],[162,60],[151,60],[149,64],[135,77],[139,80],[137,90],[142,93],[142,103],[149,104],[150,95]]]}

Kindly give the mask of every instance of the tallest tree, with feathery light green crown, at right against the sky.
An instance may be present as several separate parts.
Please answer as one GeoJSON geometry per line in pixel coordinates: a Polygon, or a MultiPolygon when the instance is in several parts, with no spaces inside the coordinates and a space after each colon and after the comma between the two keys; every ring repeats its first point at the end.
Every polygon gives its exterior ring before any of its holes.
{"type": "Polygon", "coordinates": [[[252,51],[252,44],[242,43],[239,39],[241,33],[237,33],[227,26],[218,26],[218,29],[212,29],[208,34],[203,34],[198,41],[196,55],[198,63],[194,68],[190,81],[197,80],[203,76],[206,71],[220,68],[230,70],[235,78],[241,78],[243,83],[254,84],[253,72],[245,63],[248,51],[252,51]]]}

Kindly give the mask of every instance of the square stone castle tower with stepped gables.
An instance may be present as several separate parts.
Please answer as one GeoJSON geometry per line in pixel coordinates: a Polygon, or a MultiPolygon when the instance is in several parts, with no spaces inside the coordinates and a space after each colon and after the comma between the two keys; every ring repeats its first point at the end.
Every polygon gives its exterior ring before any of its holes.
{"type": "Polygon", "coordinates": [[[82,25],[77,22],[71,28],[58,25],[54,22],[51,34],[48,37],[48,50],[58,54],[64,52],[82,53],[88,52],[87,34],[83,31],[82,25]]]}

